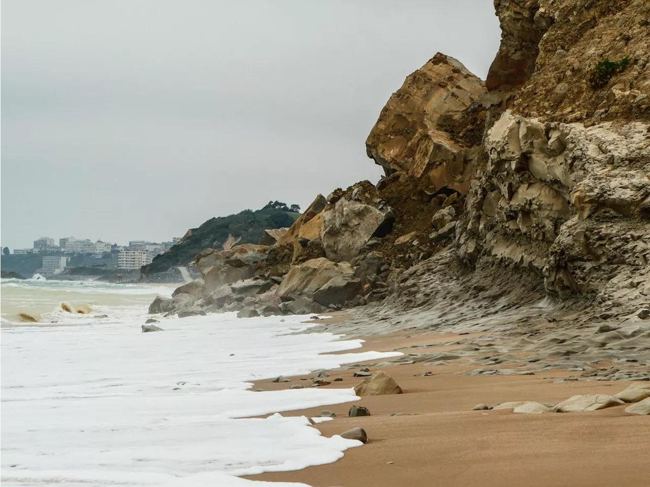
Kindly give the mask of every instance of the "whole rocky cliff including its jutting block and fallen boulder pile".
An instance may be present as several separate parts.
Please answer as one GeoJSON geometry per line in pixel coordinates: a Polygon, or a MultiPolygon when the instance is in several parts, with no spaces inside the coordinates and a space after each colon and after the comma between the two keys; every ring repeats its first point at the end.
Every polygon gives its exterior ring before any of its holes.
{"type": "MultiPolygon", "coordinates": [[[[485,83],[439,53],[389,98],[366,141],[385,178],[317,197],[262,245],[202,251],[203,281],[164,306],[254,316],[369,304],[375,317],[424,309],[447,324],[512,321],[528,306],[526,326],[543,298],[556,326],[642,306],[650,4],[495,10],[502,40],[485,83]]],[[[413,326],[433,326],[418,316],[413,326]]]]}

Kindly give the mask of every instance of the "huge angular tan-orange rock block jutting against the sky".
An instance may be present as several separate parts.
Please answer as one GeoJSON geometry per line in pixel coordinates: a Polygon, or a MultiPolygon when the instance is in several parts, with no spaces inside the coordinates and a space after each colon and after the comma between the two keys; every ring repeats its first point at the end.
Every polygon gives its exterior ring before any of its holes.
{"type": "MultiPolygon", "coordinates": [[[[485,91],[483,82],[463,64],[438,53],[393,93],[366,141],[368,156],[386,174],[404,171],[422,188],[464,193],[473,157],[463,143],[472,132],[472,117],[463,111],[485,91]],[[460,133],[454,134],[453,127],[460,133]]],[[[477,126],[482,132],[482,124],[477,126]]]]}

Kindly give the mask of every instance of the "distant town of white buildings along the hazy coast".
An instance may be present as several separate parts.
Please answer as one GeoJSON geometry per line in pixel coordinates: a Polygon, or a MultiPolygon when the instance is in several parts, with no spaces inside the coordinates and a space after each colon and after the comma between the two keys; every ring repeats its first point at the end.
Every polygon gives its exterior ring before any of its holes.
{"type": "Polygon", "coordinates": [[[29,249],[13,249],[2,247],[2,255],[41,254],[42,264],[36,272],[42,275],[62,273],[74,259],[75,265],[103,266],[108,268],[134,270],[151,264],[156,255],[168,251],[180,238],[171,242],[147,242],[146,240],[131,240],[129,245],[118,245],[98,240],[93,242],[87,238],[64,237],[58,245],[55,239],[41,237],[34,240],[29,249]]]}

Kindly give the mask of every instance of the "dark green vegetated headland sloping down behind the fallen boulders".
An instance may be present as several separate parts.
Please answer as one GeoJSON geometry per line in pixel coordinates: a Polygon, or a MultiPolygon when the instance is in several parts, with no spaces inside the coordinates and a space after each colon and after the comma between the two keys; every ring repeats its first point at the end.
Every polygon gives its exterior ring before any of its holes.
{"type": "Polygon", "coordinates": [[[142,268],[143,275],[165,272],[173,266],[184,266],[203,249],[220,249],[233,236],[237,244],[258,244],[264,230],[291,227],[300,216],[297,205],[270,201],[261,210],[244,210],[235,215],[211,218],[196,229],[188,230],[183,239],[153,262],[142,268]],[[292,212],[294,210],[295,212],[292,212]]]}

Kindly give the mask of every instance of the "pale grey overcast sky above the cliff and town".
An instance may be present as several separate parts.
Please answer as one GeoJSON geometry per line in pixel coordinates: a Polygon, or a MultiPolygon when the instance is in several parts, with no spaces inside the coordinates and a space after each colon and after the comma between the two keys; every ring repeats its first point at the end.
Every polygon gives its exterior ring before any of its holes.
{"type": "Polygon", "coordinates": [[[0,244],[170,240],[382,171],[365,139],[437,51],[477,76],[489,0],[0,0],[0,244]]]}

